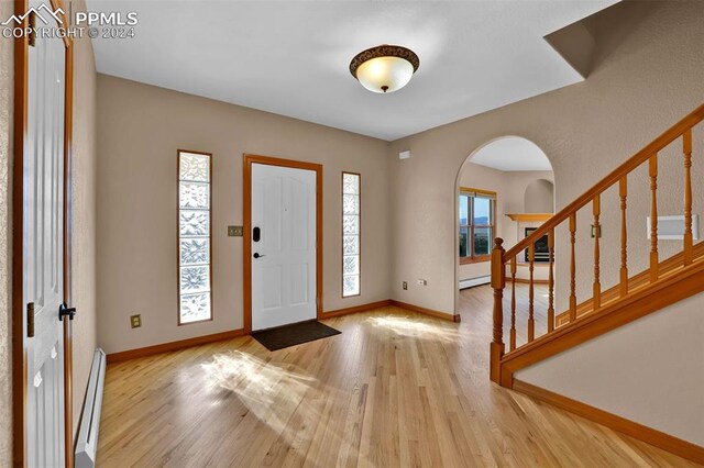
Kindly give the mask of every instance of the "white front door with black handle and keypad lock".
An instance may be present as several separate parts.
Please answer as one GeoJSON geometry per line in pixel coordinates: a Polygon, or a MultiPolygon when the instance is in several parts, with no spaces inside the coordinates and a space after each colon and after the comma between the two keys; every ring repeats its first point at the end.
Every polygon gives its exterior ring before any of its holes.
{"type": "Polygon", "coordinates": [[[252,164],[252,330],[316,319],[316,171],[252,164]]]}

